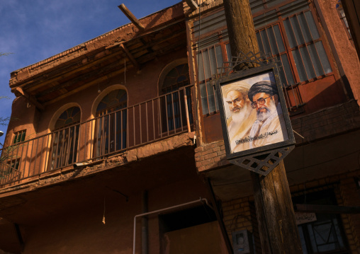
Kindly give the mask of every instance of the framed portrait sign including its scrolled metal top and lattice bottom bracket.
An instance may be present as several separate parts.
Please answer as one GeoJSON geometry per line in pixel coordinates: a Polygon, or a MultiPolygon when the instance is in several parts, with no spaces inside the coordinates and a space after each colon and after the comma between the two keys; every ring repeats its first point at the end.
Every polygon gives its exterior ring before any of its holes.
{"type": "Polygon", "coordinates": [[[295,144],[278,66],[253,52],[230,66],[215,85],[227,160],[267,175],[295,144]]]}

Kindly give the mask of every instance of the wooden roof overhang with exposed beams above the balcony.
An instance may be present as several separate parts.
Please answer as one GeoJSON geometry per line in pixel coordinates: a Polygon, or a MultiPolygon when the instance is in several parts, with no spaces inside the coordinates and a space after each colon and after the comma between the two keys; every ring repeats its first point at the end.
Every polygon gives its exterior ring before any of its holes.
{"type": "Polygon", "coordinates": [[[43,110],[46,105],[89,86],[140,70],[159,56],[186,47],[181,3],[77,45],[72,49],[11,73],[11,91],[43,110]]]}

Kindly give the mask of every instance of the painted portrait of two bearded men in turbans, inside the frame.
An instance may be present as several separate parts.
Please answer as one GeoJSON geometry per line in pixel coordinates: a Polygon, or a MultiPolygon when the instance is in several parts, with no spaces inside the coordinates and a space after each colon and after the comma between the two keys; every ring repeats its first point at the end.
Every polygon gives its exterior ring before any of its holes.
{"type": "Polygon", "coordinates": [[[232,153],[288,139],[272,73],[222,87],[232,153]]]}

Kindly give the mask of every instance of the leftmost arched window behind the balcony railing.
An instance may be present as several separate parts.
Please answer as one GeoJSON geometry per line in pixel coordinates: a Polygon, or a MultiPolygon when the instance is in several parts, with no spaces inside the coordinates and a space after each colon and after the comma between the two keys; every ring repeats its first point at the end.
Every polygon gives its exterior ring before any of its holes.
{"type": "Polygon", "coordinates": [[[80,108],[64,110],[55,122],[50,152],[50,169],[68,166],[77,161],[80,108]]]}

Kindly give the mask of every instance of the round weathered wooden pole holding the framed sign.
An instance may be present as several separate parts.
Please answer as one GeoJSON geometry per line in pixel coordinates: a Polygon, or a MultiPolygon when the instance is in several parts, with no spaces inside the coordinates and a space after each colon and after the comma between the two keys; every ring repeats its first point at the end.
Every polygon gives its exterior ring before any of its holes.
{"type": "MultiPolygon", "coordinates": [[[[223,2],[232,56],[259,52],[249,0],[223,2]]],[[[262,253],[303,253],[283,161],[266,177],[250,173],[262,253]]]]}

